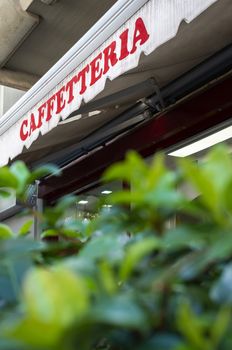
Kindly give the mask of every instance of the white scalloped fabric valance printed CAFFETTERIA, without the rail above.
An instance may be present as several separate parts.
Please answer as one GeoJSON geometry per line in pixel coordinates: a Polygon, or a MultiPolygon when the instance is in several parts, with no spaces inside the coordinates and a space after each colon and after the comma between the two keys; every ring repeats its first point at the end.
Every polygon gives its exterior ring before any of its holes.
{"type": "MultiPolygon", "coordinates": [[[[139,64],[141,53],[151,54],[175,37],[182,21],[190,23],[218,0],[150,0],[118,28],[37,104],[1,131],[0,165],[19,155],[39,137],[57,126],[83,103],[104,90],[110,81],[139,64]]],[[[122,87],[123,88],[123,87],[122,87]]],[[[25,106],[24,106],[25,109],[25,106]]],[[[9,119],[9,113],[7,114],[9,119]]]]}

